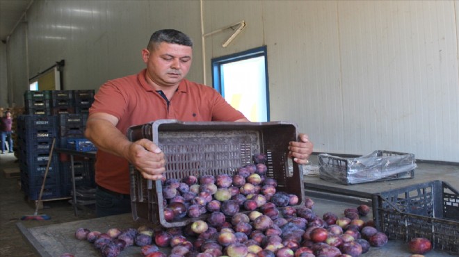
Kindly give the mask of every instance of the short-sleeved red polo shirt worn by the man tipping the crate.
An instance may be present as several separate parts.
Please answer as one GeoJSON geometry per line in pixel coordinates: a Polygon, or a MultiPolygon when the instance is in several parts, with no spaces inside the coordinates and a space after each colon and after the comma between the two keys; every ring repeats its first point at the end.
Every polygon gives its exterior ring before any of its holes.
{"type": "MultiPolygon", "coordinates": [[[[152,88],[145,80],[144,69],[136,75],[107,81],[95,94],[89,113],[108,113],[119,119],[116,127],[126,135],[127,128],[153,122],[156,119],[233,122],[244,115],[230,106],[207,85],[184,79],[169,99],[152,88]]],[[[97,151],[95,180],[108,190],[129,194],[129,163],[124,158],[97,151]]]]}

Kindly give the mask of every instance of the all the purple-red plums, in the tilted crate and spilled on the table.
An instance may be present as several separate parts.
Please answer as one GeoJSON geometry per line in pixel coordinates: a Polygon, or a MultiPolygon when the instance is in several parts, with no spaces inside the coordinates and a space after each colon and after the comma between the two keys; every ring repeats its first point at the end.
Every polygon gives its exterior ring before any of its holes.
{"type": "MultiPolygon", "coordinates": [[[[316,215],[309,197],[299,206],[296,195],[276,192],[276,181],[266,177],[264,154],[256,154],[253,161],[232,176],[163,181],[166,220],[195,218],[186,226],[106,233],[81,228],[75,236],[92,242],[102,256],[118,256],[134,245],[149,257],[355,257],[387,244],[387,235],[365,221],[369,206],[316,215]],[[163,247],[168,254],[160,251],[163,247]]],[[[430,249],[426,240],[410,243],[412,253],[430,249]]]]}

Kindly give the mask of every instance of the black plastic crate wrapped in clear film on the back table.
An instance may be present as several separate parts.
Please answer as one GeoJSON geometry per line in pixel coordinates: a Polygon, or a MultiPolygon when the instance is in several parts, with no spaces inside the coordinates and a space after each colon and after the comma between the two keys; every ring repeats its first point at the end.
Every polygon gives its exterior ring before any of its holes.
{"type": "Polygon", "coordinates": [[[412,179],[414,154],[376,150],[357,158],[319,154],[319,177],[325,181],[351,185],[394,179],[412,179]]]}

